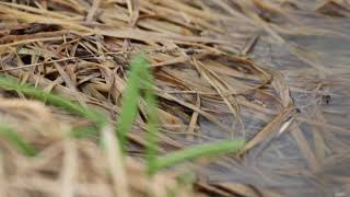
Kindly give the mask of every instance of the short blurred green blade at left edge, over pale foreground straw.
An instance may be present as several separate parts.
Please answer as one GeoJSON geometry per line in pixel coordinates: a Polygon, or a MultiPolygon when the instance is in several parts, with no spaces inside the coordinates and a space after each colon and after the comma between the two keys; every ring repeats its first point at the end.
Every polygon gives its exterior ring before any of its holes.
{"type": "Polygon", "coordinates": [[[0,125],[0,135],[16,147],[23,154],[34,157],[36,151],[27,141],[21,138],[12,128],[0,125]]]}

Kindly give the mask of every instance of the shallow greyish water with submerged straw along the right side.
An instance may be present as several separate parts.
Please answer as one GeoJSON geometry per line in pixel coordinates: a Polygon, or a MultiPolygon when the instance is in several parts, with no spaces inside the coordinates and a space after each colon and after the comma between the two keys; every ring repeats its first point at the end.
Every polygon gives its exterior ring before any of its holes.
{"type": "MultiPolygon", "coordinates": [[[[206,171],[209,181],[249,184],[262,194],[282,196],[350,196],[350,19],[318,14],[314,4],[300,1],[300,10],[290,13],[302,26],[332,33],[280,35],[318,66],[305,62],[287,45],[271,42],[268,34],[260,36],[249,54],[264,68],[283,73],[300,115],[262,152],[256,153],[257,148],[243,160],[211,164],[206,171]]],[[[259,120],[262,115],[244,106],[242,114],[247,138],[266,126],[259,120]]],[[[273,113],[264,117],[272,118],[273,113]]],[[[229,116],[221,120],[232,123],[229,116]]],[[[201,128],[212,138],[230,136],[217,132],[220,129],[205,119],[201,128]]]]}

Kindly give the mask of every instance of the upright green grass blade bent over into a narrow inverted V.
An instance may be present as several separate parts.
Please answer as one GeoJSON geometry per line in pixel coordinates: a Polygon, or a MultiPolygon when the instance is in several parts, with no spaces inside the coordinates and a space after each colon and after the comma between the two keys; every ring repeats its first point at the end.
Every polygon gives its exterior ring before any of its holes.
{"type": "Polygon", "coordinates": [[[149,174],[154,174],[158,154],[158,107],[156,97],[153,90],[153,76],[150,73],[150,62],[143,54],[139,54],[131,60],[128,86],[124,92],[121,114],[117,121],[117,132],[122,146],[122,152],[126,151],[127,132],[131,129],[132,123],[138,113],[138,104],[141,99],[141,82],[144,84],[144,101],[147,114],[147,146],[145,161],[149,174]]]}

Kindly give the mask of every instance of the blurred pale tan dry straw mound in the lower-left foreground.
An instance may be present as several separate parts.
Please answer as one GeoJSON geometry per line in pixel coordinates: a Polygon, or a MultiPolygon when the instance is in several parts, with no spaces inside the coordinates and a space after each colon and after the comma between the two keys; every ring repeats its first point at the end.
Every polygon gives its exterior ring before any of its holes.
{"type": "MultiPolygon", "coordinates": [[[[36,157],[27,158],[1,139],[2,196],[166,196],[179,187],[174,174],[150,179],[131,158],[124,169],[115,134],[108,127],[102,130],[106,141],[103,151],[93,141],[67,138],[65,132],[74,117],[52,114],[42,103],[1,99],[0,108],[1,125],[15,128],[39,150],[36,157]]],[[[191,196],[186,189],[177,192],[191,196]]]]}

